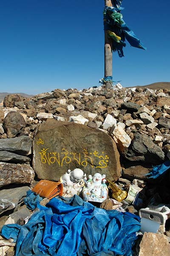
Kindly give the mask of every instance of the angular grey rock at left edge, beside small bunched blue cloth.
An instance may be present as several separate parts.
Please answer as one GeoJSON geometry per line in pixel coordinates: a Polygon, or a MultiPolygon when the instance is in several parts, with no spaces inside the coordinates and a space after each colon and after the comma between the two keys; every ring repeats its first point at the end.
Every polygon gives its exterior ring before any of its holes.
{"type": "Polygon", "coordinates": [[[14,209],[17,204],[22,202],[29,189],[28,186],[23,186],[0,190],[0,215],[7,210],[14,209]]]}

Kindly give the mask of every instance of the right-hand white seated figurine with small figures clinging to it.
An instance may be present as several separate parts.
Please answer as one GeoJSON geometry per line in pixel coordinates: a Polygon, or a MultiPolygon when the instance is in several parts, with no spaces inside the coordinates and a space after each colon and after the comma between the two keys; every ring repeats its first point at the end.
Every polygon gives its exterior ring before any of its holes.
{"type": "Polygon", "coordinates": [[[88,181],[82,189],[83,200],[102,203],[108,198],[105,177],[106,175],[101,175],[100,173],[95,173],[93,177],[91,175],[88,176],[88,181]]]}

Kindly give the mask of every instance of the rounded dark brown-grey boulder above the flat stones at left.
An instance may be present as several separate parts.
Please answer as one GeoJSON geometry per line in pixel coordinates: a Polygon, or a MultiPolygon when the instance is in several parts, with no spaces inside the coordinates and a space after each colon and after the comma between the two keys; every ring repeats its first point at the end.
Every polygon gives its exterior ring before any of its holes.
{"type": "Polygon", "coordinates": [[[26,121],[20,113],[11,111],[3,119],[3,128],[8,138],[13,138],[24,131],[26,121]]]}

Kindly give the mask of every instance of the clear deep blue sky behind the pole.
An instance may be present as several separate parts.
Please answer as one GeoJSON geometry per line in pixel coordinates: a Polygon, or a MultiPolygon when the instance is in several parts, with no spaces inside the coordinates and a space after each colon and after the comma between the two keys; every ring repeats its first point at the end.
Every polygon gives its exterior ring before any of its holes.
{"type": "MultiPolygon", "coordinates": [[[[113,53],[124,87],[170,81],[170,0],[123,0],[125,22],[147,50],[113,53]]],[[[1,0],[0,92],[98,86],[104,76],[104,0],[1,0]]]]}

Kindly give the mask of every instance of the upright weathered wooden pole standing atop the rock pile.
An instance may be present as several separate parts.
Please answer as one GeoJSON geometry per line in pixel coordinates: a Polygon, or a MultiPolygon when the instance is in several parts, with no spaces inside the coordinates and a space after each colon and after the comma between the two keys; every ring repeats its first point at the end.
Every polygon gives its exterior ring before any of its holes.
{"type": "MultiPolygon", "coordinates": [[[[112,7],[111,0],[105,0],[105,6],[112,7]]],[[[107,30],[105,31],[105,76],[112,76],[112,39],[109,38],[107,30]]],[[[107,81],[105,88],[111,87],[112,83],[107,81]]]]}

